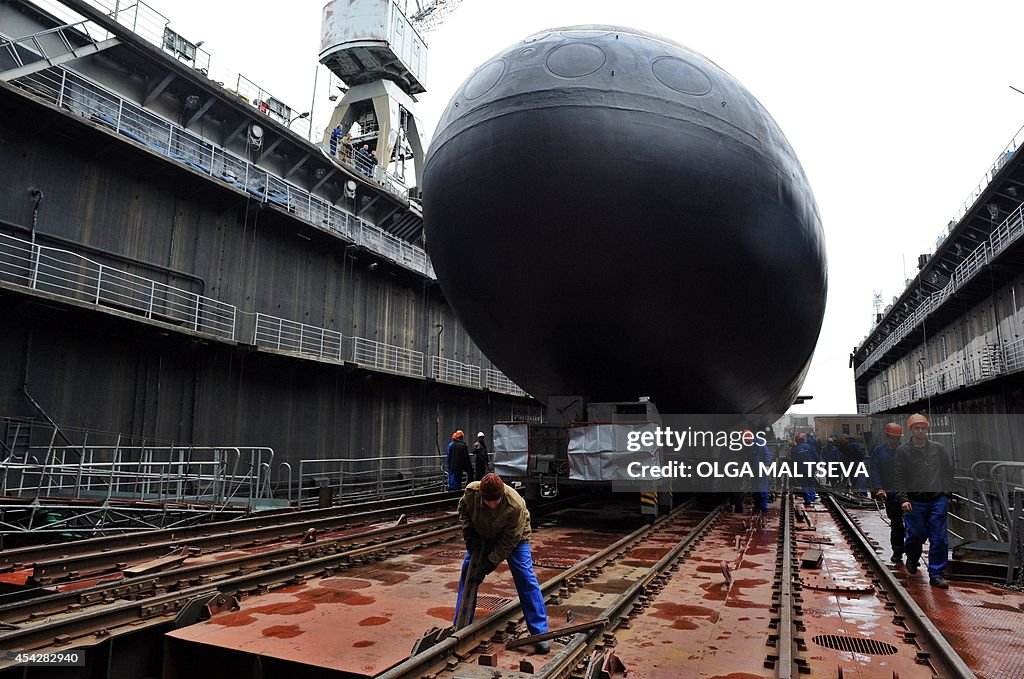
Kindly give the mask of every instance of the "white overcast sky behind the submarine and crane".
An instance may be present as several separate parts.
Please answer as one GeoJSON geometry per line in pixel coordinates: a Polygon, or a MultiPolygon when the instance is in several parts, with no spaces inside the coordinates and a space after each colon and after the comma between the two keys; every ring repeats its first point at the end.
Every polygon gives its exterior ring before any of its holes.
{"type": "MultiPolygon", "coordinates": [[[[319,51],[319,0],[152,0],[171,28],[204,40],[212,71],[241,71],[308,110],[319,51]]],[[[412,4],[412,0],[410,0],[412,4]]],[[[817,198],[828,249],[828,304],[794,412],[855,412],[851,349],[932,252],[1024,123],[1024,2],[830,3],[702,0],[464,0],[427,36],[432,135],[452,94],[489,56],[541,29],[615,24],[695,49],[774,116],[817,198]]],[[[321,70],[314,129],[333,104],[321,70]]],[[[779,324],[784,329],[785,324],[779,324]]]]}

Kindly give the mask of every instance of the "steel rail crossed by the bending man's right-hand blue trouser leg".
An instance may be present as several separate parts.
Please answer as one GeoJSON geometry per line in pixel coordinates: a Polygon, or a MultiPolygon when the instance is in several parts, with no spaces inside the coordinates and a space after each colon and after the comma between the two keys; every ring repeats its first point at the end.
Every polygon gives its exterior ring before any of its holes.
{"type": "MultiPolygon", "coordinates": [[[[630,549],[633,545],[640,542],[654,531],[665,527],[666,523],[671,522],[682,512],[691,509],[692,506],[693,501],[688,501],[687,503],[680,505],[668,515],[656,519],[653,524],[637,528],[628,536],[615,541],[608,547],[605,547],[600,552],[587,557],[571,568],[568,568],[551,580],[548,580],[541,585],[542,594],[547,597],[552,591],[561,587],[563,583],[566,583],[586,570],[589,570],[596,563],[607,560],[617,553],[630,549]]],[[[521,606],[518,600],[510,601],[504,606],[493,611],[486,618],[476,621],[461,630],[453,632],[450,636],[444,637],[433,646],[392,667],[387,672],[376,677],[376,679],[402,679],[404,677],[422,676],[428,673],[433,666],[441,663],[443,657],[455,653],[459,647],[475,646],[480,639],[489,638],[499,629],[505,627],[506,623],[510,619],[519,614],[521,614],[521,606]]]]}

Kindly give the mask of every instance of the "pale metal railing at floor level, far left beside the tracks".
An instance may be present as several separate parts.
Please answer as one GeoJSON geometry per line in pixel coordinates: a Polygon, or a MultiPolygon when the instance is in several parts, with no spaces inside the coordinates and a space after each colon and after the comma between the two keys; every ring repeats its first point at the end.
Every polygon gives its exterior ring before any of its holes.
{"type": "Polygon", "coordinates": [[[246,504],[270,497],[269,448],[50,444],[0,462],[0,495],[246,504]]]}

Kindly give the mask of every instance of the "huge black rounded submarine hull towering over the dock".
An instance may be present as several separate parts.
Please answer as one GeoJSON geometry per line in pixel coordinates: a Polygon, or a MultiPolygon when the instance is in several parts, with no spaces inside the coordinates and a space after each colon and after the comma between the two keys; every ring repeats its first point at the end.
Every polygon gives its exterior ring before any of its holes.
{"type": "Polygon", "coordinates": [[[456,90],[422,200],[441,291],[539,400],[794,402],[824,315],[820,215],[771,115],[703,55],[613,26],[527,37],[456,90]]]}

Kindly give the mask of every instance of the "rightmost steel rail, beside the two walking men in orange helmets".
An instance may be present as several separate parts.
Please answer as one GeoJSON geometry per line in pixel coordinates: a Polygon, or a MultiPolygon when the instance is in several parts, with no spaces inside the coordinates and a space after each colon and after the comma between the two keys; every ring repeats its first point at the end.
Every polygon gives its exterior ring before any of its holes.
{"type": "Polygon", "coordinates": [[[934,659],[941,664],[942,667],[935,668],[935,670],[942,672],[941,676],[944,677],[972,679],[975,676],[974,672],[946,641],[932,621],[928,619],[909,592],[900,585],[896,576],[889,570],[882,557],[874,551],[867,536],[847,513],[846,509],[830,497],[825,498],[825,505],[846,532],[851,546],[865,557],[865,563],[877,582],[881,583],[887,594],[895,598],[895,604],[903,614],[907,628],[914,633],[914,641],[921,650],[928,654],[929,660],[934,659]]]}

